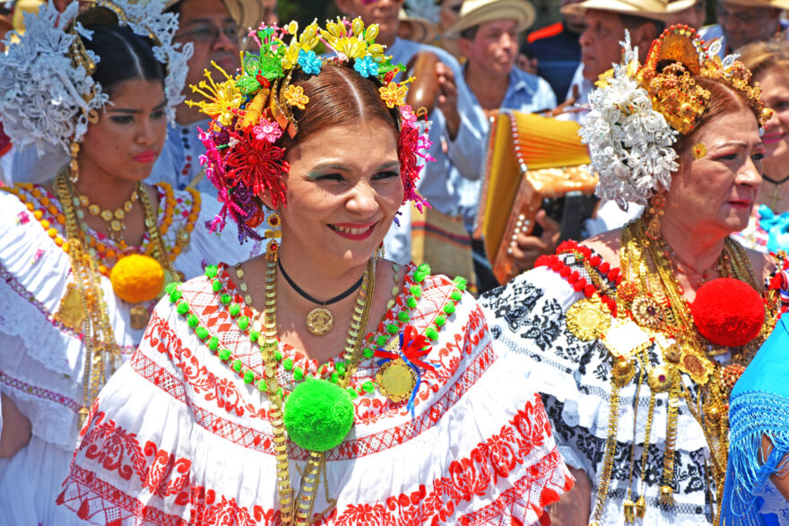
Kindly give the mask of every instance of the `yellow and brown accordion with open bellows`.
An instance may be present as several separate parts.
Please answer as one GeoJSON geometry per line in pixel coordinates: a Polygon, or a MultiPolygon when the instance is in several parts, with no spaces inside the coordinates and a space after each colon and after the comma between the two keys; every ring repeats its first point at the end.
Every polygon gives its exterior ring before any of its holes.
{"type": "Polygon", "coordinates": [[[475,237],[482,238],[499,283],[518,273],[512,247],[518,234],[537,234],[537,211],[546,209],[559,220],[563,234],[591,213],[594,202],[578,199],[594,194],[597,185],[587,167],[590,161],[579,127],[510,110],[494,118],[475,237]]]}

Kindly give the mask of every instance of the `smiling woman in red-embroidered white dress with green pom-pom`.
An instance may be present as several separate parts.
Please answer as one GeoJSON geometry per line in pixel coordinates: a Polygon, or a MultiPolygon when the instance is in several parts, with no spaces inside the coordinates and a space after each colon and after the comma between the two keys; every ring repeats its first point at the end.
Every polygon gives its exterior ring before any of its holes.
{"type": "Polygon", "coordinates": [[[423,204],[428,144],[376,35],[263,28],[241,73],[195,87],[217,223],[267,254],[169,289],[82,430],[59,499],[79,516],[532,524],[572,485],[464,280],[377,254],[423,204]]]}

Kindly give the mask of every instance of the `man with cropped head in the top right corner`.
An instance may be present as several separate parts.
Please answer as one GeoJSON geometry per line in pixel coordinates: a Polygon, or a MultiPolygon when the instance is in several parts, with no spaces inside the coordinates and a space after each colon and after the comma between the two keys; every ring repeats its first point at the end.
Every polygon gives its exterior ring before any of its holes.
{"type": "Polygon", "coordinates": [[[751,42],[786,39],[789,28],[781,12],[789,0],[725,0],[716,5],[718,23],[699,31],[702,39],[723,39],[721,57],[751,42]]]}

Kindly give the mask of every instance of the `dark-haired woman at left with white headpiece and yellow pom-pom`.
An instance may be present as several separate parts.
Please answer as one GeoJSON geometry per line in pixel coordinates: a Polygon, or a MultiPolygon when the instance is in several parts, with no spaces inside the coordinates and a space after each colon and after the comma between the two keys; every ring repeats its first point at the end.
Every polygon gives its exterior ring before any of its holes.
{"type": "MultiPolygon", "coordinates": [[[[72,160],[0,193],[0,523],[64,524],[56,508],[79,427],[141,341],[167,282],[208,254],[249,254],[205,226],[195,192],[141,181],[183,85],[161,4],[45,5],[0,55],[0,118],[20,146],[72,160]]],[[[179,278],[178,278],[179,279],[179,278]]]]}

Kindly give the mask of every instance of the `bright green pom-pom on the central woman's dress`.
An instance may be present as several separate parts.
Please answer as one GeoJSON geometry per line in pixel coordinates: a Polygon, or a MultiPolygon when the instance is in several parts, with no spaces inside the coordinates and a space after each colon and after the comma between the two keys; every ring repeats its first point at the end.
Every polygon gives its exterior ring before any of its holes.
{"type": "Polygon", "coordinates": [[[351,396],[325,380],[297,385],[285,400],[284,413],[290,440],[308,451],[336,447],[353,426],[351,396]]]}

